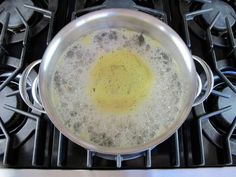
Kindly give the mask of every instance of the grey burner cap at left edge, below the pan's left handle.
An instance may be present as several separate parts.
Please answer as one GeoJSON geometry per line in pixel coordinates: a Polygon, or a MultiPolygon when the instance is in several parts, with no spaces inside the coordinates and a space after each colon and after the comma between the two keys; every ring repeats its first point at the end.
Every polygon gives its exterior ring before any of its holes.
{"type": "Polygon", "coordinates": [[[7,94],[13,92],[13,90],[6,86],[1,92],[0,92],[0,117],[2,118],[4,123],[8,123],[12,116],[14,115],[13,111],[7,110],[4,108],[4,105],[10,105],[12,107],[16,107],[17,100],[16,96],[10,96],[6,97],[7,94]]]}

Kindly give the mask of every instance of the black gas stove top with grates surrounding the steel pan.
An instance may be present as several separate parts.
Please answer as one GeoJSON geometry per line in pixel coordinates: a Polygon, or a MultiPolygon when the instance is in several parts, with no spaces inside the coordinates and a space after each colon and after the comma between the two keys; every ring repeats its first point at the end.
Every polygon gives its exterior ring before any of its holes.
{"type": "MultiPolygon", "coordinates": [[[[236,165],[236,3],[223,0],[12,0],[0,4],[0,166],[45,169],[159,169],[236,165]],[[71,20],[103,8],[130,8],[170,25],[214,74],[214,89],[169,139],[126,156],[86,150],[20,97],[23,70],[41,59],[71,20]]],[[[33,70],[26,81],[31,88],[33,70]]]]}

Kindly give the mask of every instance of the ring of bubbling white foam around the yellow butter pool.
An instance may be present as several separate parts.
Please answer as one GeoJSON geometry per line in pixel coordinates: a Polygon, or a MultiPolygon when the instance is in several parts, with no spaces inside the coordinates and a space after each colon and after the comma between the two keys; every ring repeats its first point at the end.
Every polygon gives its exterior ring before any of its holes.
{"type": "Polygon", "coordinates": [[[154,140],[176,123],[184,104],[180,67],[161,45],[127,29],[98,30],[81,36],[58,60],[52,81],[56,111],[68,131],[103,147],[128,148],[154,140]],[[138,53],[155,75],[148,99],[126,114],[96,109],[86,94],[89,71],[103,52],[123,49],[138,53]]]}

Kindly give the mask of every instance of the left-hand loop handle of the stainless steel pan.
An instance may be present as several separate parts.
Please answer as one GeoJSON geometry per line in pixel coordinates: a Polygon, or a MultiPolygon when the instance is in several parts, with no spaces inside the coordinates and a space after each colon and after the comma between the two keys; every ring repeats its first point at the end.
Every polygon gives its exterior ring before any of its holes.
{"type": "Polygon", "coordinates": [[[40,93],[38,91],[38,76],[33,81],[33,84],[31,87],[31,94],[32,94],[34,103],[32,103],[30,101],[29,94],[26,89],[26,84],[27,84],[26,81],[27,81],[27,78],[29,77],[29,74],[31,73],[32,69],[40,63],[41,63],[41,60],[36,60],[25,68],[25,70],[23,71],[23,73],[20,77],[19,91],[20,91],[21,98],[24,100],[24,102],[27,104],[27,106],[29,106],[31,109],[33,109],[35,111],[46,114],[46,112],[43,108],[43,105],[42,105],[40,93]]]}

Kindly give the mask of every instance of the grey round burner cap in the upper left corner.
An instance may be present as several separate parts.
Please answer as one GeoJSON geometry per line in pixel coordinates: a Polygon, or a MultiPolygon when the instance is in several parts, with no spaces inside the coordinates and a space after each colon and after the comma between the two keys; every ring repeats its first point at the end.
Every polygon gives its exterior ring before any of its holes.
{"type": "Polygon", "coordinates": [[[23,25],[19,14],[16,12],[15,8],[17,7],[21,14],[24,16],[25,20],[28,21],[30,17],[33,15],[33,11],[24,7],[24,4],[33,6],[33,2],[31,0],[5,0],[0,4],[0,22],[4,23],[5,21],[5,13],[10,13],[10,20],[8,27],[9,28],[19,28],[23,25]]]}

